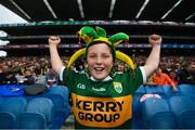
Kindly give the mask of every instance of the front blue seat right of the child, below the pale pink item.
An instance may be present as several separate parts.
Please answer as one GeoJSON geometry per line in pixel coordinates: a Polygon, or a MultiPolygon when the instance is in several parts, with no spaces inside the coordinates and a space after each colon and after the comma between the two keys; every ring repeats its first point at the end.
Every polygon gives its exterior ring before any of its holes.
{"type": "Polygon", "coordinates": [[[144,128],[176,128],[176,117],[165,99],[150,98],[143,102],[144,128]]]}

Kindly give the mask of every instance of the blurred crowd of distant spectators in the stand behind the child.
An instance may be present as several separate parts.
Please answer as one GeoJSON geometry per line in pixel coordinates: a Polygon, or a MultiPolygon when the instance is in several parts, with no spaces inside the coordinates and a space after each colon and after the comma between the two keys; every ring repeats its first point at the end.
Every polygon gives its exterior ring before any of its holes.
{"type": "MultiPolygon", "coordinates": [[[[66,66],[68,58],[63,56],[66,66]]],[[[135,65],[144,65],[146,56],[132,56],[135,65]]],[[[128,67],[125,63],[117,61],[117,72],[123,72],[128,67]]],[[[159,67],[167,74],[176,84],[195,83],[195,57],[194,56],[161,56],[159,67]]],[[[84,69],[83,60],[78,61],[72,69],[84,69]]],[[[49,56],[22,56],[0,57],[0,84],[3,83],[62,83],[58,76],[51,68],[49,56]]]]}

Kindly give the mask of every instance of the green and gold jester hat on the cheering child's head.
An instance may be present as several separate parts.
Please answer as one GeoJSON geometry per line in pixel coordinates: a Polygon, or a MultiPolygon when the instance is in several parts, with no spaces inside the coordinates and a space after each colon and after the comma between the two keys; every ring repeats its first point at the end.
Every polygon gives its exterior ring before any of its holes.
{"type": "Polygon", "coordinates": [[[68,62],[67,68],[69,68],[72,64],[75,63],[75,61],[77,61],[80,56],[87,56],[87,51],[90,46],[93,46],[93,43],[103,42],[110,47],[114,60],[120,60],[127,63],[130,68],[134,69],[132,60],[125,53],[116,51],[116,47],[120,42],[129,40],[129,36],[127,34],[118,32],[107,38],[106,31],[103,28],[95,27],[94,29],[90,26],[84,26],[78,31],[78,35],[86,42],[87,47],[73,54],[68,62]]]}

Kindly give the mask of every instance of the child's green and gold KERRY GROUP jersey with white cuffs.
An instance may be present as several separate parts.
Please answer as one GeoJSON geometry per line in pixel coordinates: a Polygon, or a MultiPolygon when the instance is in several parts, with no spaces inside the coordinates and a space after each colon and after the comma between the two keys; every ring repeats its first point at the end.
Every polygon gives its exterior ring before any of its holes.
{"type": "Polygon", "coordinates": [[[69,69],[61,76],[72,93],[76,129],[131,128],[132,95],[143,83],[143,70],[127,69],[103,81],[69,69]]]}

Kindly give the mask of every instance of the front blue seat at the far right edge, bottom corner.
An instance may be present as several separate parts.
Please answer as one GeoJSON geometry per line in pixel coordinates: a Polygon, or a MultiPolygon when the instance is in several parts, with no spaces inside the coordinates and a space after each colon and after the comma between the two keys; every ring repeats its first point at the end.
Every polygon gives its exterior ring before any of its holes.
{"type": "Polygon", "coordinates": [[[169,99],[171,110],[177,117],[178,128],[188,128],[187,125],[195,125],[195,102],[188,96],[172,96],[169,99]],[[192,113],[192,114],[191,114],[192,113]],[[183,121],[184,118],[187,120],[183,121]],[[186,121],[191,121],[187,123],[186,121]]]}

